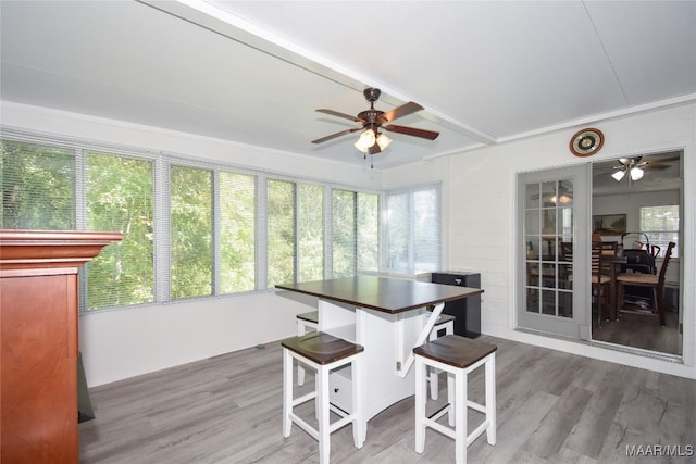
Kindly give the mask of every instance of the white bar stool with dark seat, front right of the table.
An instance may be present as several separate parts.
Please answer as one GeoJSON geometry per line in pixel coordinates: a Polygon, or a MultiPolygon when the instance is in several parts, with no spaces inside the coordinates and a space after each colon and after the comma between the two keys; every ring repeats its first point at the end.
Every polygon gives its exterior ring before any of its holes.
{"type": "Polygon", "coordinates": [[[457,463],[467,462],[467,448],[484,431],[488,444],[496,444],[496,350],[495,344],[473,341],[458,335],[430,341],[413,349],[415,355],[415,452],[425,450],[425,428],[431,427],[455,440],[457,463]],[[485,365],[485,405],[467,398],[468,375],[485,365]],[[447,372],[448,404],[430,417],[425,416],[427,402],[425,376],[427,367],[447,372]],[[467,435],[467,407],[485,415],[484,421],[467,435]],[[453,416],[452,416],[453,412],[453,416]],[[437,423],[448,414],[450,427],[437,423]]]}

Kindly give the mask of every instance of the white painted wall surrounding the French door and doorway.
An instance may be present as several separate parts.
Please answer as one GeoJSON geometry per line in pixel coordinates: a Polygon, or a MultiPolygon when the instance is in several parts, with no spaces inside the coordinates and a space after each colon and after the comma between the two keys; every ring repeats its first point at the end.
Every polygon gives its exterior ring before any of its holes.
{"type": "MultiPolygon", "coordinates": [[[[592,161],[684,150],[683,283],[695,281],[696,104],[592,123],[605,134],[605,146],[592,161]]],[[[481,273],[482,330],[485,334],[696,378],[694,285],[684,285],[684,364],[660,361],[518,331],[514,328],[514,203],[518,173],[588,162],[573,156],[568,143],[580,127],[434,159],[385,173],[384,188],[442,179],[444,187],[445,266],[481,273]]]]}

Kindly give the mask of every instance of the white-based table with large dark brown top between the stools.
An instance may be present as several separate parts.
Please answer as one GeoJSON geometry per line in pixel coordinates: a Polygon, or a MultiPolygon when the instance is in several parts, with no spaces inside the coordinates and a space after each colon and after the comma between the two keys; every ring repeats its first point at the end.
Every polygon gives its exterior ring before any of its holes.
{"type": "MultiPolygon", "coordinates": [[[[318,329],[364,348],[364,381],[357,386],[364,399],[362,430],[370,418],[414,394],[413,348],[428,339],[444,303],[483,293],[480,288],[381,276],[275,287],[316,297],[318,329]]],[[[330,375],[330,402],[346,412],[352,412],[351,381],[350,367],[330,375]]]]}

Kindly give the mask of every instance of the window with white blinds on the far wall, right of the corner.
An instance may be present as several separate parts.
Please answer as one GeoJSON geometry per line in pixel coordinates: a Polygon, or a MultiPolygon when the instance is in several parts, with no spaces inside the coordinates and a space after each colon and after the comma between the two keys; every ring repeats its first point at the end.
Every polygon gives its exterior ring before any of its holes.
{"type": "Polygon", "coordinates": [[[440,267],[439,188],[427,186],[386,196],[387,267],[399,274],[440,267]]]}

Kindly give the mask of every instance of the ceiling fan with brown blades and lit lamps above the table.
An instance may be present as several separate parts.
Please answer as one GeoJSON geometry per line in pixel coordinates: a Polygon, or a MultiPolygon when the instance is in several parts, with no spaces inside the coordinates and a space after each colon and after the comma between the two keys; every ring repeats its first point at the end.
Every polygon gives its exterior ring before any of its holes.
{"type": "Polygon", "coordinates": [[[351,116],[349,114],[340,113],[334,110],[316,110],[320,113],[326,113],[331,114],[332,116],[338,116],[346,120],[355,121],[356,123],[360,124],[360,127],[353,127],[336,134],[332,134],[326,137],[319,138],[316,140],[312,140],[312,143],[322,143],[336,137],[364,129],[364,131],[356,142],[356,148],[365,153],[366,156],[368,153],[380,153],[391,142],[391,139],[382,134],[380,130],[405,134],[407,136],[421,137],[428,140],[435,140],[437,136],[439,136],[439,133],[433,130],[387,124],[391,123],[398,117],[407,116],[411,113],[423,110],[423,106],[421,106],[420,104],[410,101],[406,104],[402,104],[401,106],[397,106],[393,110],[384,112],[374,109],[374,102],[377,101],[380,99],[380,95],[382,95],[382,91],[380,89],[370,87],[363,90],[363,95],[365,96],[365,100],[370,102],[370,110],[362,111],[357,116],[351,116]]]}

